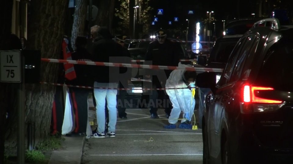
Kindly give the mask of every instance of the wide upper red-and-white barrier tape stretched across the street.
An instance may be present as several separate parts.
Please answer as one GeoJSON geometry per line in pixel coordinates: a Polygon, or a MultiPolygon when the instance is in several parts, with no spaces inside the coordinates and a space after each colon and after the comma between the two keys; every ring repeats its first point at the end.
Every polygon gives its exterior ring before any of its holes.
{"type": "Polygon", "coordinates": [[[201,71],[201,72],[222,72],[222,69],[219,69],[219,68],[157,66],[157,65],[106,63],[106,62],[44,59],[44,58],[42,58],[41,60],[44,62],[50,62],[50,63],[70,63],[70,64],[83,64],[83,65],[95,65],[95,66],[107,66],[107,67],[129,67],[129,68],[145,68],[145,69],[155,69],[155,70],[188,70],[188,71],[201,71]]]}

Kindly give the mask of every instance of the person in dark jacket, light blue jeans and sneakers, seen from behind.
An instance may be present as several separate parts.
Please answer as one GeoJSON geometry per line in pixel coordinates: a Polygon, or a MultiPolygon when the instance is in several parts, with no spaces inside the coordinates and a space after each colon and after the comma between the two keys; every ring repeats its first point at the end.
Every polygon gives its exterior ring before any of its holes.
{"type": "MultiPolygon", "coordinates": [[[[106,27],[93,26],[91,28],[91,36],[93,37],[92,55],[94,61],[123,63],[121,58],[123,55],[123,47],[112,39],[109,29],[106,27]]],[[[96,99],[96,114],[98,129],[91,135],[92,138],[105,138],[105,99],[109,111],[109,124],[106,136],[115,137],[115,126],[117,122],[117,87],[120,71],[127,71],[127,68],[97,66],[95,68],[94,77],[94,95],[96,99]],[[118,74],[117,74],[118,72],[118,74]],[[103,89],[109,88],[109,89],[103,89]]]]}

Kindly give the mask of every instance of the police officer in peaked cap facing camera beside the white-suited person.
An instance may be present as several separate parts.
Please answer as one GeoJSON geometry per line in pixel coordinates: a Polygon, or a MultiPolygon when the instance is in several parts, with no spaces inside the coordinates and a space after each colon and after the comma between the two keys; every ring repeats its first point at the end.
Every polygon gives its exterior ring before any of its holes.
{"type": "MultiPolygon", "coordinates": [[[[152,65],[161,65],[161,66],[178,66],[179,63],[179,50],[176,48],[175,43],[171,40],[167,39],[167,33],[165,30],[160,29],[156,32],[157,40],[150,43],[147,53],[145,56],[146,61],[151,61],[152,65]]],[[[152,84],[153,88],[165,88],[166,80],[168,79],[172,70],[149,70],[149,75],[147,78],[152,76],[152,84]]],[[[165,91],[158,92],[157,90],[153,90],[150,95],[150,103],[154,105],[150,105],[150,114],[151,118],[159,118],[157,115],[157,108],[163,105],[165,108],[166,117],[169,118],[172,103],[166,94],[165,91]],[[163,104],[159,104],[158,98],[163,98],[161,102],[163,104]]]]}

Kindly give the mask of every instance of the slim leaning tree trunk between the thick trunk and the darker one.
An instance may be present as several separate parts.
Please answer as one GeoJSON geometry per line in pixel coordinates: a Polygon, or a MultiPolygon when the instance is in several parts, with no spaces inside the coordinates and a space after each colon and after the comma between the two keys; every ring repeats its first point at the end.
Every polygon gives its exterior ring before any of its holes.
{"type": "Polygon", "coordinates": [[[77,36],[83,36],[85,32],[85,16],[87,10],[87,1],[77,0],[74,8],[73,25],[71,30],[71,47],[75,50],[75,39],[77,36]]]}

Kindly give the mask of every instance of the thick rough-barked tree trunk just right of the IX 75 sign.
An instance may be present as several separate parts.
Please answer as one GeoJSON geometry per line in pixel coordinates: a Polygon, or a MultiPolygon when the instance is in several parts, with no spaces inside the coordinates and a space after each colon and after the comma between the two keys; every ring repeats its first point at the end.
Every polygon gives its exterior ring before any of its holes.
{"type": "MultiPolygon", "coordinates": [[[[31,0],[27,49],[41,50],[42,58],[59,58],[68,0],[31,0]]],[[[58,63],[41,64],[41,81],[56,82],[58,63]]],[[[25,123],[35,124],[36,144],[49,136],[55,87],[26,84],[25,123]]],[[[14,108],[15,111],[15,108],[14,108]]],[[[16,147],[16,117],[8,120],[5,146],[16,147]]]]}

